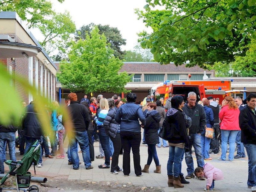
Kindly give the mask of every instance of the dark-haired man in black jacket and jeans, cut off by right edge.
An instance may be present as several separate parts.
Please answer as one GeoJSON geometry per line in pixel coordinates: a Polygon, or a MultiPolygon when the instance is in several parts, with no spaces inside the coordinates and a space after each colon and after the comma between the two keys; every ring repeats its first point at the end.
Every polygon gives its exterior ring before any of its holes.
{"type": "Polygon", "coordinates": [[[241,142],[244,143],[248,155],[248,188],[256,192],[256,94],[250,93],[246,98],[247,105],[239,114],[241,142]]]}

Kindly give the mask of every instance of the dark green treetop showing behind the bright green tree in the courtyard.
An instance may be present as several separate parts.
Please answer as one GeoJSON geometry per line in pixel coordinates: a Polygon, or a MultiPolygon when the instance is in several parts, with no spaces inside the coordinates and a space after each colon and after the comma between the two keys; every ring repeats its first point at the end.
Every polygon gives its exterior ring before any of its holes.
{"type": "MultiPolygon", "coordinates": [[[[81,28],[76,30],[75,39],[76,41],[80,38],[86,39],[87,35],[91,36],[91,32],[96,25],[90,23],[89,25],[83,25],[81,28]]],[[[107,38],[107,43],[110,43],[111,48],[114,50],[114,55],[120,60],[124,59],[124,52],[121,50],[122,45],[126,45],[126,39],[122,37],[120,31],[116,27],[109,27],[109,25],[97,25],[100,30],[100,35],[104,33],[107,38]]]]}

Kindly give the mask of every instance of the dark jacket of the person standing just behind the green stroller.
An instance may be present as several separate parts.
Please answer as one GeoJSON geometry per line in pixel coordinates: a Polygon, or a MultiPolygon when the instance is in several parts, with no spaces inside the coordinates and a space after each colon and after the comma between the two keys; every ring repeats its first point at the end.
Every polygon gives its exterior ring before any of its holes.
{"type": "Polygon", "coordinates": [[[37,118],[41,114],[34,111],[34,105],[26,107],[26,113],[21,118],[21,129],[24,130],[23,135],[29,138],[40,138],[43,135],[42,126],[37,118]]]}

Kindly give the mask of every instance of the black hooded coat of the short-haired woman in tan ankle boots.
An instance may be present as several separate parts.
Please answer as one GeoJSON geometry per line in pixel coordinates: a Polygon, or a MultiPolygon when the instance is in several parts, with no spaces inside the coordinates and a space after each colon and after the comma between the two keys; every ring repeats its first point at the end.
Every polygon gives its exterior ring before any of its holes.
{"type": "Polygon", "coordinates": [[[143,127],[145,129],[145,141],[146,144],[159,143],[158,129],[161,116],[157,110],[148,111],[146,115],[146,124],[143,127]]]}

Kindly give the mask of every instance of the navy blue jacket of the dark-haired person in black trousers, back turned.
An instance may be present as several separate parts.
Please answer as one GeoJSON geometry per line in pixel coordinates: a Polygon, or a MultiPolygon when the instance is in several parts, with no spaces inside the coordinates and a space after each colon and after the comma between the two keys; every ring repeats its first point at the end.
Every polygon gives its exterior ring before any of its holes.
{"type": "Polygon", "coordinates": [[[146,118],[142,113],[139,105],[134,102],[126,102],[116,112],[115,120],[120,124],[120,132],[137,132],[140,133],[140,122],[146,123],[146,118]]]}

